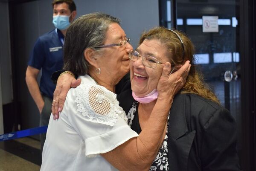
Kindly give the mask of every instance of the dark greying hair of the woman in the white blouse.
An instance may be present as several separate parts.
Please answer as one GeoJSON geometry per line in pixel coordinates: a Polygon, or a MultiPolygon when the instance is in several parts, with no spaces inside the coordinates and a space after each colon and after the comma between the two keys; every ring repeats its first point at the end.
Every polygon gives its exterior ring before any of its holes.
{"type": "Polygon", "coordinates": [[[102,45],[109,25],[120,22],[119,18],[101,12],[85,14],[73,21],[65,37],[64,70],[76,75],[86,74],[88,63],[84,58],[84,50],[102,45]]]}

